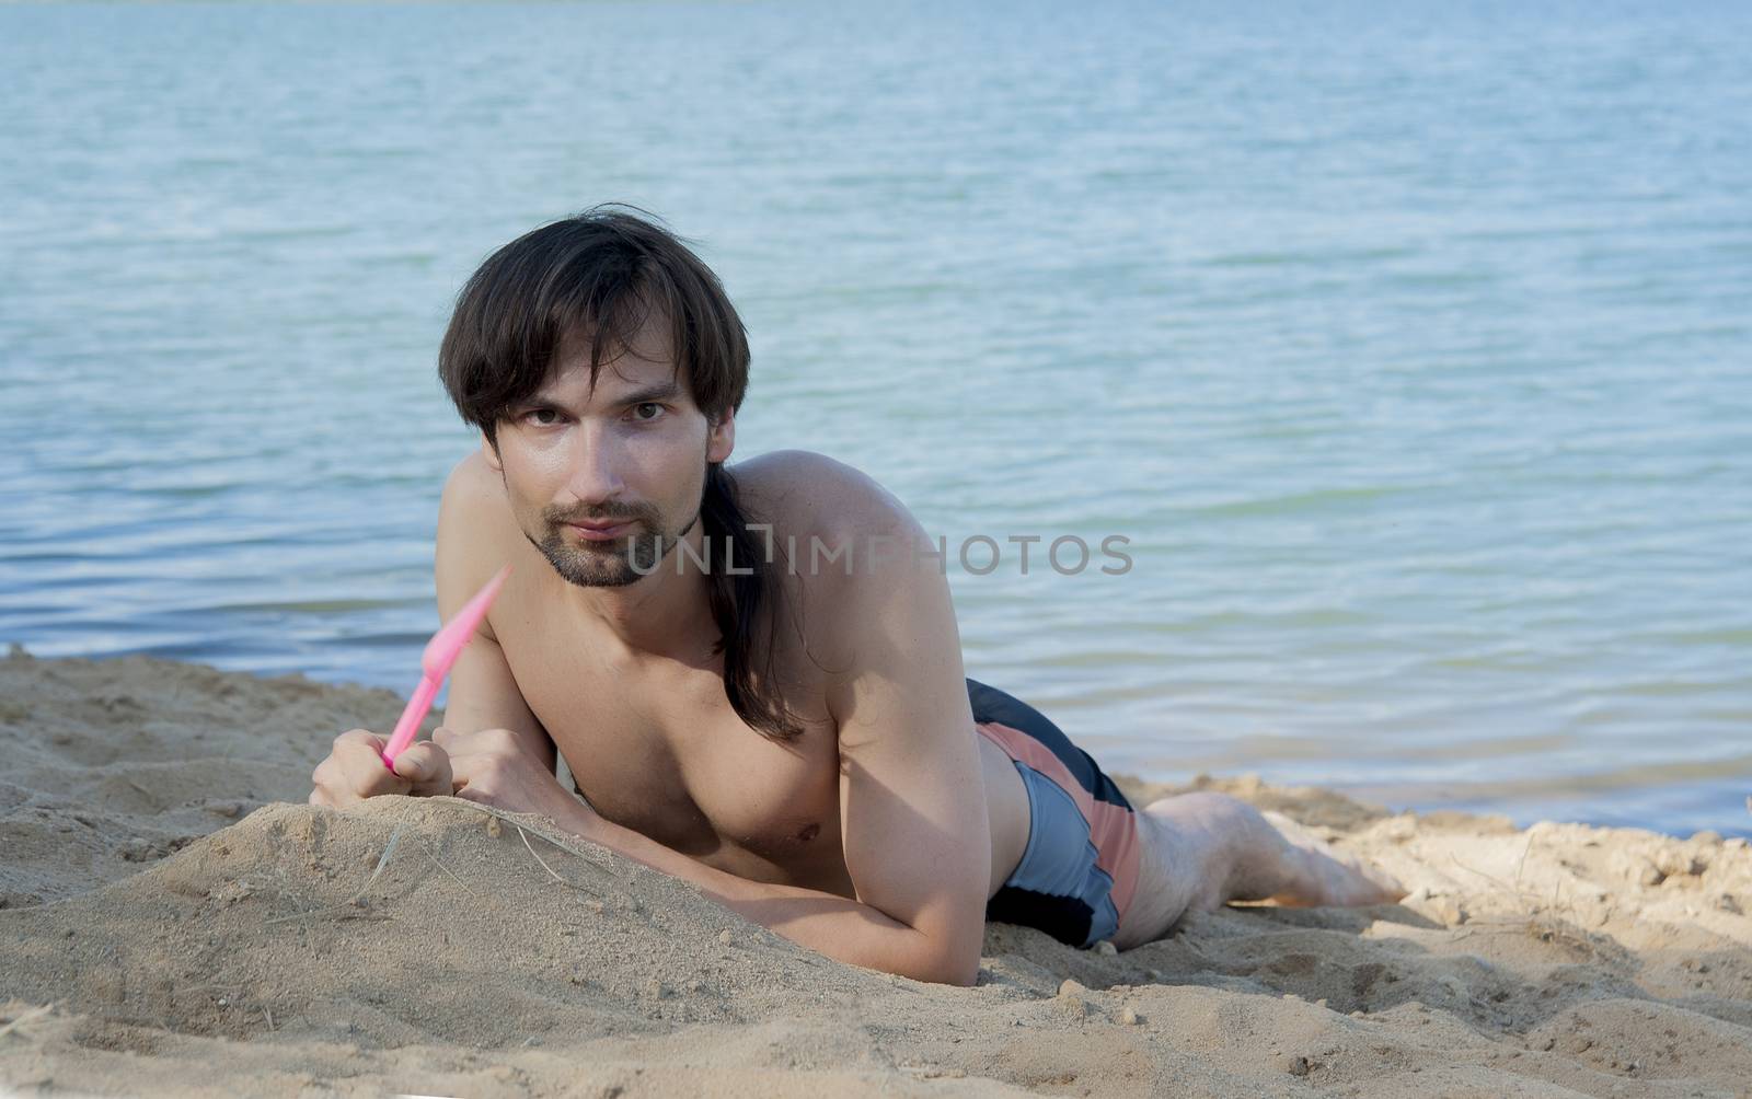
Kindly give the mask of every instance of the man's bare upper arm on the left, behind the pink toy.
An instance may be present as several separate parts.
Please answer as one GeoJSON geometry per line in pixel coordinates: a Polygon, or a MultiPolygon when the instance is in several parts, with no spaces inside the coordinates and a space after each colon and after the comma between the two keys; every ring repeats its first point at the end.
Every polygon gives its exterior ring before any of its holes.
{"type": "MultiPolygon", "coordinates": [[[[505,564],[489,560],[489,542],[480,534],[491,527],[482,516],[494,508],[505,508],[503,490],[480,453],[470,453],[450,471],[438,500],[433,576],[442,621],[450,621],[505,564]]],[[[524,751],[554,774],[557,758],[554,740],[541,721],[529,712],[529,704],[524,702],[524,693],[517,688],[517,679],[487,620],[482,620],[450,668],[443,724],[457,733],[510,730],[524,751]]]]}

